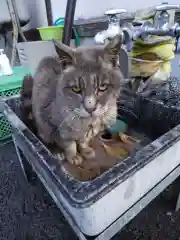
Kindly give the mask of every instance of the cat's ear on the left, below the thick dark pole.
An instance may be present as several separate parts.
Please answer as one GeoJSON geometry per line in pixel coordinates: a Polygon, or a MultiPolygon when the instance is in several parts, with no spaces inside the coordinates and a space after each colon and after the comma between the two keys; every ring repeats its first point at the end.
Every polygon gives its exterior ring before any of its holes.
{"type": "Polygon", "coordinates": [[[56,53],[61,60],[63,65],[70,65],[74,63],[74,51],[69,46],[63,44],[62,42],[57,42],[56,40],[52,40],[54,43],[54,47],[56,53]]]}

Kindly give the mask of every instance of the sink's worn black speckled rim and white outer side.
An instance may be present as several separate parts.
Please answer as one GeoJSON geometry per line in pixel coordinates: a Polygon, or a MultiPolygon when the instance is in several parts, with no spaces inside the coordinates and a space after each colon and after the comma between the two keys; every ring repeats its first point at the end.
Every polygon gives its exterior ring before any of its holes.
{"type": "MultiPolygon", "coordinates": [[[[148,104],[151,103],[139,100],[137,127],[145,120],[144,109],[147,110],[148,104]]],[[[164,105],[153,104],[155,108],[157,106],[156,110],[167,114],[164,105]]],[[[169,114],[166,118],[162,116],[163,121],[153,115],[146,116],[146,125],[153,125],[155,139],[150,144],[94,180],[81,182],[64,171],[23,124],[18,99],[8,100],[0,106],[12,126],[13,137],[22,155],[56,204],[64,206],[77,228],[88,236],[101,233],[180,165],[180,111],[176,108],[168,108],[169,114]],[[175,125],[178,126],[172,129],[175,125]],[[161,129],[161,136],[157,129],[161,129]]]]}

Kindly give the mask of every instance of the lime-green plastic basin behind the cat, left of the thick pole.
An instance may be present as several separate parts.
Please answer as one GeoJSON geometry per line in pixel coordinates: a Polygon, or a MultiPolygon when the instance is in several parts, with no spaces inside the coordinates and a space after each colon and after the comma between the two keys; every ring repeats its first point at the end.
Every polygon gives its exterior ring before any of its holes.
{"type": "Polygon", "coordinates": [[[62,40],[64,26],[38,28],[42,40],[62,40]]]}

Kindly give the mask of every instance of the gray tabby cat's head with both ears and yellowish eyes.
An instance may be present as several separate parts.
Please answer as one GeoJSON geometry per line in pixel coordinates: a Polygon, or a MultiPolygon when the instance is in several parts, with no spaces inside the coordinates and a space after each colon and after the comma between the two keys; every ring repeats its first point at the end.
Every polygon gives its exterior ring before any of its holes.
{"type": "Polygon", "coordinates": [[[101,116],[119,96],[122,74],[117,65],[119,38],[104,46],[72,49],[54,41],[64,63],[58,94],[80,117],[101,116]],[[71,106],[70,106],[71,107],[71,106]]]}

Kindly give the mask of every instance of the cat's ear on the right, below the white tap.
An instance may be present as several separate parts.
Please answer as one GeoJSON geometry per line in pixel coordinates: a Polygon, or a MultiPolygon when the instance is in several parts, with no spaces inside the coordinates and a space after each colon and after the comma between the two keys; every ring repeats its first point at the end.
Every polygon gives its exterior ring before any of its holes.
{"type": "Polygon", "coordinates": [[[120,48],[122,45],[122,36],[115,36],[111,40],[107,40],[104,46],[104,58],[112,63],[113,67],[118,65],[120,48]]]}

